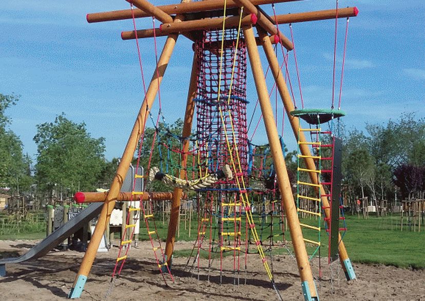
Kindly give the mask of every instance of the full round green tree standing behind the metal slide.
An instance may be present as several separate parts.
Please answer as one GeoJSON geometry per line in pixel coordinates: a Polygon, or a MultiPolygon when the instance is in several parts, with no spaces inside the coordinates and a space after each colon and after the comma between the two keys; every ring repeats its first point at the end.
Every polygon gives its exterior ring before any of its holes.
{"type": "Polygon", "coordinates": [[[104,138],[91,138],[85,123],[74,123],[64,114],[54,122],[37,125],[36,180],[40,191],[91,191],[104,170],[104,138]]]}

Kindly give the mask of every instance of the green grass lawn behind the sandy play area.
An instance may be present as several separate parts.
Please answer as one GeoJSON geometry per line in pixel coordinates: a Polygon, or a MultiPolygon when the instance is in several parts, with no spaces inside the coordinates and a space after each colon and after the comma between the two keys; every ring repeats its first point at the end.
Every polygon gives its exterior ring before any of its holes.
{"type": "MultiPolygon", "coordinates": [[[[4,216],[3,216],[4,218],[4,216]]],[[[349,229],[344,237],[344,243],[353,262],[363,262],[366,264],[393,265],[397,267],[412,267],[415,269],[425,269],[425,227],[421,232],[412,232],[409,230],[407,219],[404,218],[403,231],[400,231],[400,216],[376,217],[370,216],[369,219],[358,218],[357,216],[346,217],[347,228],[349,229]]],[[[142,222],[139,239],[147,240],[148,235],[144,223],[142,222]]],[[[165,240],[167,236],[167,220],[156,220],[157,230],[160,238],[165,240]]],[[[260,232],[261,223],[256,220],[257,231],[260,232]]],[[[191,223],[191,235],[188,235],[189,223],[186,223],[184,229],[184,219],[180,222],[180,236],[177,240],[195,240],[197,237],[196,216],[191,223]]],[[[42,239],[45,237],[45,223],[40,220],[29,222],[6,223],[0,220],[0,239],[42,239]],[[14,232],[13,232],[14,231],[14,232]]],[[[412,228],[413,229],[413,228],[412,228]]],[[[270,233],[263,237],[267,237],[270,233]]],[[[278,227],[275,227],[274,234],[281,234],[278,227]]],[[[217,236],[217,234],[216,234],[217,236]]],[[[306,235],[308,236],[308,235],[306,235]]],[[[327,254],[327,234],[324,230],[322,236],[322,256],[327,254]]],[[[285,238],[291,240],[289,231],[286,231],[285,238]]],[[[280,235],[277,240],[281,240],[280,235]]],[[[311,254],[315,248],[308,246],[307,251],[311,254]]],[[[175,256],[187,257],[191,250],[178,250],[175,256]]],[[[231,253],[231,252],[227,252],[231,253]]],[[[274,249],[274,254],[287,254],[286,249],[274,249]]],[[[201,254],[207,257],[208,254],[201,254]]],[[[216,255],[214,255],[216,256],[216,255]]]]}

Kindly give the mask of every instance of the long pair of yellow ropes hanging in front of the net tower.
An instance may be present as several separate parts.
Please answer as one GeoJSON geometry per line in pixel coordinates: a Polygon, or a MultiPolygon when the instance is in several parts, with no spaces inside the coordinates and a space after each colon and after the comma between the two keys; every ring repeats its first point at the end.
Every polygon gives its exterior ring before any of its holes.
{"type": "MultiPolygon", "coordinates": [[[[219,75],[218,101],[217,101],[217,103],[218,103],[218,107],[219,107],[219,111],[220,111],[221,122],[222,122],[223,127],[224,127],[224,135],[225,135],[225,138],[226,138],[227,148],[229,150],[230,162],[231,162],[231,165],[232,165],[232,167],[235,171],[235,174],[236,174],[237,168],[236,168],[235,160],[234,160],[234,157],[233,157],[233,150],[232,150],[232,147],[230,146],[230,143],[229,143],[229,139],[228,139],[228,136],[227,136],[226,124],[224,122],[223,111],[222,111],[221,105],[220,105],[220,87],[221,87],[221,75],[222,75],[223,53],[224,53],[223,50],[224,50],[224,30],[225,30],[225,16],[226,16],[225,13],[226,13],[226,0],[224,1],[224,18],[223,18],[222,41],[221,41],[221,51],[220,51],[220,55],[221,55],[221,57],[220,57],[220,75],[219,75]]],[[[231,70],[230,87],[229,87],[227,104],[230,103],[231,88],[232,88],[232,85],[233,85],[233,78],[234,78],[234,73],[235,73],[236,57],[237,57],[237,53],[238,53],[240,30],[241,30],[241,23],[242,23],[242,13],[243,13],[243,7],[241,7],[241,13],[240,13],[240,16],[239,16],[238,34],[237,34],[237,38],[236,38],[235,55],[234,55],[233,66],[232,66],[232,70],[231,70]]],[[[228,109],[228,116],[229,116],[230,125],[231,125],[232,138],[233,138],[233,141],[236,141],[235,126],[234,126],[234,123],[233,123],[233,118],[232,118],[230,109],[228,109]]],[[[241,167],[241,162],[240,162],[239,149],[238,149],[238,146],[237,146],[236,143],[235,143],[235,151],[236,151],[236,158],[237,158],[237,161],[238,161],[237,163],[238,163],[239,174],[242,174],[242,167],[241,167]]],[[[244,192],[244,193],[241,193],[242,202],[243,202],[245,207],[250,208],[249,198],[248,198],[248,194],[246,192],[245,180],[244,180],[243,176],[241,177],[241,181],[239,180],[238,176],[235,176],[235,178],[236,178],[236,183],[238,184],[239,191],[244,192]],[[241,187],[241,184],[242,184],[243,188],[241,187]]],[[[248,210],[248,211],[245,210],[245,213],[246,213],[246,217],[248,219],[249,224],[254,225],[254,218],[253,218],[251,210],[248,210]]],[[[249,228],[251,229],[251,232],[252,232],[252,235],[253,235],[255,241],[256,242],[260,241],[258,233],[257,233],[257,229],[255,227],[249,227],[249,228]]],[[[260,243],[257,243],[257,249],[258,249],[258,253],[260,254],[261,259],[263,261],[263,265],[264,265],[264,268],[266,270],[267,276],[269,277],[270,280],[273,280],[272,272],[271,272],[270,268],[268,267],[267,261],[265,260],[265,254],[264,254],[263,248],[261,247],[260,243]]]]}

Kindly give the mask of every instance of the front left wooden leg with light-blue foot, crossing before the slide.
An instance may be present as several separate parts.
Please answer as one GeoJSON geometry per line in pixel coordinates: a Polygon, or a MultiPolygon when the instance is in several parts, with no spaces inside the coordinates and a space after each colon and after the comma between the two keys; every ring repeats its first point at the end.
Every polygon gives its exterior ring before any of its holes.
{"type": "Polygon", "coordinates": [[[117,174],[112,181],[108,196],[105,200],[105,204],[103,205],[102,211],[99,215],[98,223],[96,224],[96,228],[94,229],[89,246],[81,263],[80,270],[75,277],[75,281],[68,295],[68,298],[79,298],[81,296],[87,280],[87,276],[90,272],[91,266],[93,265],[94,257],[96,256],[100,241],[102,239],[103,233],[105,232],[106,224],[109,222],[111,212],[114,208],[115,200],[117,200],[117,196],[121,190],[121,186],[127,174],[128,167],[130,166],[130,162],[133,159],[134,151],[136,150],[140,136],[143,133],[148,114],[147,107],[152,107],[153,101],[157,96],[159,89],[158,85],[161,83],[164,76],[172,50],[176,45],[177,37],[177,34],[170,34],[167,37],[164,49],[162,50],[160,59],[158,61],[158,68],[153,73],[153,77],[150,81],[142,107],[140,108],[139,115],[136,119],[136,122],[134,123],[133,130],[131,131],[130,138],[128,139],[124,150],[124,154],[121,157],[117,174]]]}

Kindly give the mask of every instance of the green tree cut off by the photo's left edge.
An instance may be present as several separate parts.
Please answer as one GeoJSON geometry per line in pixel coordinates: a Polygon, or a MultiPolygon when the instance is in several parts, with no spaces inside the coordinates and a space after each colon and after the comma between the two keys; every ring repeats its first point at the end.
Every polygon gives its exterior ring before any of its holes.
{"type": "Polygon", "coordinates": [[[23,155],[22,142],[8,129],[11,119],[5,114],[6,109],[18,100],[14,95],[0,94],[0,187],[7,187],[12,193],[28,190],[32,181],[31,159],[23,155]]]}

